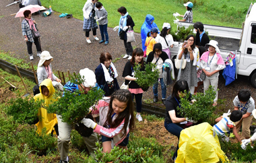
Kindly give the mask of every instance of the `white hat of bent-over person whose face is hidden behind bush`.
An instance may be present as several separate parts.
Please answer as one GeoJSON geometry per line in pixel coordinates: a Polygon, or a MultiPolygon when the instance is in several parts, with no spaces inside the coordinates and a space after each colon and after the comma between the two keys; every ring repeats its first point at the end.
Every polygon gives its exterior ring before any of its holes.
{"type": "Polygon", "coordinates": [[[82,79],[84,79],[83,85],[85,87],[94,87],[96,85],[96,76],[94,74],[94,71],[85,68],[81,69],[79,71],[79,74],[81,75],[82,79]]]}

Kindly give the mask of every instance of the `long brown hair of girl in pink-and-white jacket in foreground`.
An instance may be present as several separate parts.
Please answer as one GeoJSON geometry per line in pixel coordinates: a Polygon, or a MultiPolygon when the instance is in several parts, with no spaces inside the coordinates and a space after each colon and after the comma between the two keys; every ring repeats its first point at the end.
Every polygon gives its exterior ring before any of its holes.
{"type": "Polygon", "coordinates": [[[134,110],[134,106],[133,106],[133,100],[131,97],[131,92],[129,92],[129,90],[121,90],[121,89],[117,90],[110,97],[108,115],[104,125],[106,125],[107,123],[108,125],[110,125],[111,128],[116,128],[122,123],[123,120],[125,120],[123,129],[122,129],[123,131],[122,137],[124,137],[127,133],[128,124],[129,124],[130,131],[132,131],[135,128],[135,118],[134,118],[133,110],[134,110]],[[120,112],[118,114],[115,121],[112,121],[112,118],[111,118],[112,112],[113,112],[112,104],[114,99],[119,100],[119,102],[125,102],[127,106],[125,110],[123,110],[123,112],[120,112]]]}

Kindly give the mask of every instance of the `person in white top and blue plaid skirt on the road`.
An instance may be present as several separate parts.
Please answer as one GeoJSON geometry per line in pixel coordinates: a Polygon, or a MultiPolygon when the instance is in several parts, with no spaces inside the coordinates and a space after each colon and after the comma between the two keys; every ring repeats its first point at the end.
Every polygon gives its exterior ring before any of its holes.
{"type": "Polygon", "coordinates": [[[96,23],[96,20],[94,20],[95,17],[95,10],[94,5],[97,2],[97,0],[87,0],[84,4],[83,12],[84,12],[84,32],[86,32],[86,41],[88,44],[92,43],[89,38],[89,32],[92,29],[92,35],[94,36],[95,40],[99,40],[96,36],[96,30],[98,29],[98,25],[96,23]]]}

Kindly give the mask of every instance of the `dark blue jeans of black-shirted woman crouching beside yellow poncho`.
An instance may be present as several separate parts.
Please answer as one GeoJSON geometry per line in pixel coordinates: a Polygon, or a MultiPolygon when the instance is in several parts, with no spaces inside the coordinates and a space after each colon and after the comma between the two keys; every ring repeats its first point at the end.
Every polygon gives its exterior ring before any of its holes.
{"type": "MultiPolygon", "coordinates": [[[[180,127],[179,125],[177,125],[176,123],[164,123],[164,127],[166,128],[166,130],[177,136],[178,139],[180,139],[180,135],[181,135],[181,131],[183,130],[182,127],[180,127]]],[[[177,148],[176,148],[176,151],[174,152],[173,156],[172,156],[172,160],[174,160],[174,158],[177,158],[178,156],[178,150],[179,150],[179,141],[178,141],[178,144],[177,144],[177,148]]]]}

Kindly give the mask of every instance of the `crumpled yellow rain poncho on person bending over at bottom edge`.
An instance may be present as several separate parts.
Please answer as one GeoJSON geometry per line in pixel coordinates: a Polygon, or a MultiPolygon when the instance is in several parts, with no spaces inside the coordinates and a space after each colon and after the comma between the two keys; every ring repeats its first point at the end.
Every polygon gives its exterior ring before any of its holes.
{"type": "Polygon", "coordinates": [[[175,162],[229,162],[220,148],[220,141],[209,123],[201,123],[181,131],[178,157],[175,162]]]}

